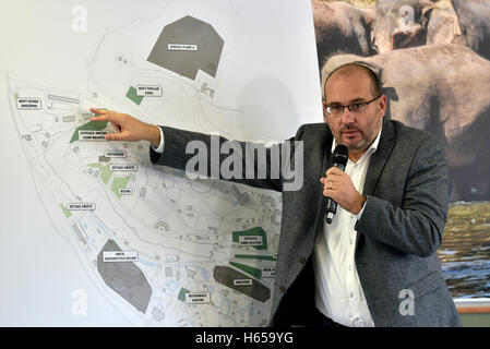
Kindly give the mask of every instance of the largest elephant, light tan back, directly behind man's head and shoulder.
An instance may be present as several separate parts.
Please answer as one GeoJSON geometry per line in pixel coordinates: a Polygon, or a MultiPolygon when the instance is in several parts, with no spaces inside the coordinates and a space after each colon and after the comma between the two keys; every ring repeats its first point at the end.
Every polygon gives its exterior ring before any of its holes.
{"type": "MultiPolygon", "coordinates": [[[[490,200],[490,61],[456,44],[397,49],[372,57],[338,55],[382,68],[386,118],[434,134],[444,146],[451,201],[490,200]]],[[[414,145],[417,146],[417,145],[414,145]]]]}

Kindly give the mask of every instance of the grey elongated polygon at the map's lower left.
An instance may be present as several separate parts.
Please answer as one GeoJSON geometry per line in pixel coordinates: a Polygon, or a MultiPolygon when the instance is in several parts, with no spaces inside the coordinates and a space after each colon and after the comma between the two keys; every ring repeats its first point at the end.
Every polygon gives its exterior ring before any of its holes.
{"type": "Polygon", "coordinates": [[[97,255],[97,270],[104,282],[142,313],[146,313],[152,286],[133,262],[104,262],[104,251],[121,251],[113,240],[107,240],[97,255]]]}

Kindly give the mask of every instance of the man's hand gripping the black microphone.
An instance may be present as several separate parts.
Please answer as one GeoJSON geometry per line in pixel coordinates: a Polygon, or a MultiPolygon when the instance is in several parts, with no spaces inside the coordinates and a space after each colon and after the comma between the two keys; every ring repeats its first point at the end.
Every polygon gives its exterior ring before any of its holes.
{"type": "Polygon", "coordinates": [[[323,195],[332,197],[345,210],[357,215],[361,212],[366,196],[354,186],[350,176],[336,167],[331,167],[325,177],[320,178],[323,184],[323,195]]]}

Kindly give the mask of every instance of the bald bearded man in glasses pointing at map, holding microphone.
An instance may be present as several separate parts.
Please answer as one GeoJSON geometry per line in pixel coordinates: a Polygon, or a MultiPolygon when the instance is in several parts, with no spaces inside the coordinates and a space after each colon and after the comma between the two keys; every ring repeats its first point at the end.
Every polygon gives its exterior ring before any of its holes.
{"type": "MultiPolygon", "coordinates": [[[[282,158],[301,153],[301,188],[285,190],[288,180],[270,171],[231,179],[283,192],[271,325],[461,326],[437,254],[449,202],[444,151],[429,133],[384,119],[379,73],[363,62],[323,70],[325,122],[300,127],[289,142],[301,146],[282,158]],[[336,144],[349,149],[345,172],[333,167],[336,144]],[[338,204],[330,225],[327,196],[338,204]]],[[[107,140],[150,141],[153,164],[186,169],[191,141],[211,149],[208,135],[92,111],[118,131],[107,140]]]]}

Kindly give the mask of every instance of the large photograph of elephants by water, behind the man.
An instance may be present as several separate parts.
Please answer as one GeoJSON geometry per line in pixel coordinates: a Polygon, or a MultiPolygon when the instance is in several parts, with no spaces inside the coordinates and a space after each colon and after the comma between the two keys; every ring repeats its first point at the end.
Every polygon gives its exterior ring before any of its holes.
{"type": "Polygon", "coordinates": [[[490,298],[490,0],[312,0],[320,71],[382,68],[385,118],[432,133],[451,198],[438,250],[454,298],[490,298]]]}

